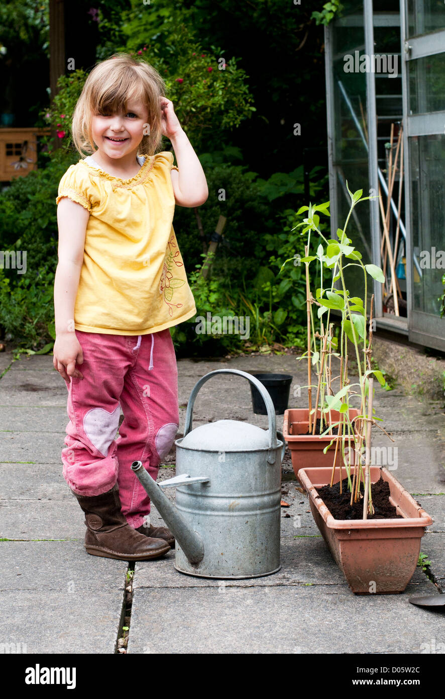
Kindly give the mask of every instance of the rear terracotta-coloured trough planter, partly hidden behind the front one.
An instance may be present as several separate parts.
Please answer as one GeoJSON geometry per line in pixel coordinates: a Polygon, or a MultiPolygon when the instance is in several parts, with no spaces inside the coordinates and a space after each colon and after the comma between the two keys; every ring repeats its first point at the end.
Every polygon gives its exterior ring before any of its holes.
{"type": "MultiPolygon", "coordinates": [[[[350,408],[349,419],[357,417],[358,410],[350,408]]],[[[330,411],[330,419],[333,423],[338,422],[340,413],[337,410],[330,411]]],[[[317,413],[317,418],[320,417],[320,411],[317,413]]],[[[328,419],[329,414],[323,414],[323,419],[328,419]]],[[[326,454],[323,454],[323,449],[328,446],[333,438],[333,435],[327,434],[325,437],[319,435],[307,435],[309,429],[309,409],[308,408],[290,408],[284,412],[283,435],[288,445],[291,457],[293,472],[298,480],[300,477],[298,472],[300,468],[331,468],[333,467],[335,442],[328,449],[326,454]]],[[[337,434],[337,427],[333,428],[334,436],[337,434]]],[[[352,440],[351,440],[352,445],[352,440]]],[[[340,450],[340,446],[339,446],[340,450]]],[[[340,454],[337,454],[337,463],[340,463],[340,454]]],[[[330,480],[330,477],[329,477],[330,480]]]]}

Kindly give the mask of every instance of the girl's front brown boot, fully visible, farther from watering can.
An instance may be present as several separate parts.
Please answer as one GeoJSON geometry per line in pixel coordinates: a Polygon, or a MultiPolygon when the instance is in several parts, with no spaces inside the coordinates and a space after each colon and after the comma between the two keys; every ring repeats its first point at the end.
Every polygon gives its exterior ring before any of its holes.
{"type": "Polygon", "coordinates": [[[85,512],[87,552],[119,561],[147,561],[168,553],[170,546],[166,541],[143,536],[128,524],[118,492],[115,484],[108,493],[93,497],[73,493],[85,512]]]}

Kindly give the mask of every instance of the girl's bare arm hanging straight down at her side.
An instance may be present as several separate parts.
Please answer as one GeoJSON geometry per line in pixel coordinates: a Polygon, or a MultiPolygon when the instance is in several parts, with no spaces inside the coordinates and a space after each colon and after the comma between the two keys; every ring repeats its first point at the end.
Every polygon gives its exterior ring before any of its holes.
{"type": "Polygon", "coordinates": [[[59,264],[54,279],[54,315],[56,341],[54,369],[69,381],[70,376],[83,378],[75,364],[83,361],[82,347],[74,331],[74,306],[83,264],[85,233],[89,211],[68,197],[57,206],[59,226],[59,264]]]}

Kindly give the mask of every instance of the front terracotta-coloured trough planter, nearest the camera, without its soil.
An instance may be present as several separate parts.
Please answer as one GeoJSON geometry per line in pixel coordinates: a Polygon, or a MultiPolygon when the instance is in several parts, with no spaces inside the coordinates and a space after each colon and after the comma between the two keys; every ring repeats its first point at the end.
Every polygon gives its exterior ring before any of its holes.
{"type": "MultiPolygon", "coordinates": [[[[316,491],[330,483],[331,473],[330,468],[304,468],[300,481],[309,494],[316,526],[349,587],[358,595],[403,592],[416,570],[425,526],[432,524],[430,515],[386,468],[371,466],[371,482],[380,475],[388,482],[390,502],[404,519],[334,519],[316,491]]],[[[335,469],[334,482],[338,480],[340,468],[335,469]]]]}

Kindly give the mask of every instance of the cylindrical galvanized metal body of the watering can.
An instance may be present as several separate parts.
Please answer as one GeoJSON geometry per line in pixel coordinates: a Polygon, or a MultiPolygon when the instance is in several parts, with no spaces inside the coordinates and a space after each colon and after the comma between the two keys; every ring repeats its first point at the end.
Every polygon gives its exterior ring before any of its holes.
{"type": "Polygon", "coordinates": [[[204,557],[196,566],[178,540],[175,568],[217,578],[256,577],[279,570],[281,459],[267,462],[257,452],[193,452],[177,440],[176,471],[203,473],[208,483],[176,489],[176,507],[203,538],[204,557]]]}

